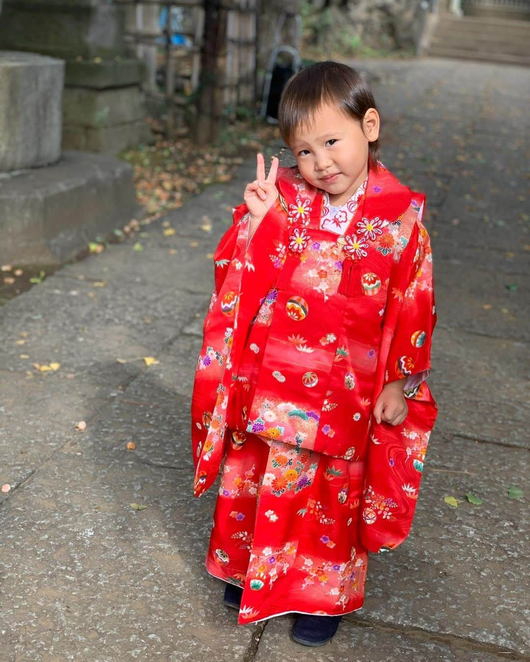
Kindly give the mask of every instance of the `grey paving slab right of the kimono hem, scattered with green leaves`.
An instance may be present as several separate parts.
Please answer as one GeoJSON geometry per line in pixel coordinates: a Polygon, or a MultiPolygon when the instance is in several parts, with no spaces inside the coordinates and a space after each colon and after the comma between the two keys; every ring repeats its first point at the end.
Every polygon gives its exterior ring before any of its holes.
{"type": "Polygon", "coordinates": [[[362,618],[529,652],[529,512],[507,498],[509,485],[525,485],[528,453],[507,457],[501,446],[433,434],[409,538],[370,555],[362,618]],[[468,492],[482,505],[466,502],[468,492]],[[444,496],[462,501],[454,508],[444,496]]]}

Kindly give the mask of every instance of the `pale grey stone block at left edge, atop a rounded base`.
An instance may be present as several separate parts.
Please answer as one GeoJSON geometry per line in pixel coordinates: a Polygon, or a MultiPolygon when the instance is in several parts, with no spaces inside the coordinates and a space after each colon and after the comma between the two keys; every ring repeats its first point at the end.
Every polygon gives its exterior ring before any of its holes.
{"type": "Polygon", "coordinates": [[[0,171],[58,160],[63,84],[62,60],[0,51],[0,171]]]}

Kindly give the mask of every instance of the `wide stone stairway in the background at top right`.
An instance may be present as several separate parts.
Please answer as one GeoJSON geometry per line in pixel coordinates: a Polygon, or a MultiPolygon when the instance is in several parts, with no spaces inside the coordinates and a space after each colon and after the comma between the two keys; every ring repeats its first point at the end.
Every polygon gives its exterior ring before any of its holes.
{"type": "Polygon", "coordinates": [[[444,13],[426,55],[530,66],[530,21],[444,13]]]}

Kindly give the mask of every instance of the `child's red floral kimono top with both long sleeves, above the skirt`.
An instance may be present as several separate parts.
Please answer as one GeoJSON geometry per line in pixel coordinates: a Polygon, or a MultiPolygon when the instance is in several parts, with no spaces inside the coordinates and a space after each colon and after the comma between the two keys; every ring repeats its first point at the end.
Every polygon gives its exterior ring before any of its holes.
{"type": "Polygon", "coordinates": [[[323,193],[280,169],[280,197],[246,246],[248,211],[214,255],[215,290],[191,403],[195,495],[246,432],[366,461],[360,536],[371,551],[409,533],[436,404],[424,381],[436,314],[425,197],[370,169],[347,226],[321,228],[323,193]],[[373,405],[407,377],[407,418],[373,405]]]}

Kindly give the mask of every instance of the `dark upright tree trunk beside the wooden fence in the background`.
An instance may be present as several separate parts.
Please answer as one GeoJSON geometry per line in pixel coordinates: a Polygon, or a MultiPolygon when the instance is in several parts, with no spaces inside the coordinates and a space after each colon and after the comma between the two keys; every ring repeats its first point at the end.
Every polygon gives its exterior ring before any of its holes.
{"type": "MultiPolygon", "coordinates": [[[[222,0],[221,0],[222,2],[222,0]]],[[[197,144],[215,142],[221,132],[226,79],[227,9],[219,0],[204,0],[204,34],[197,117],[193,135],[197,144]]]]}

